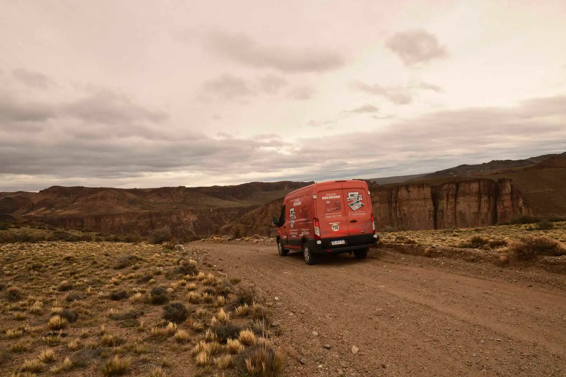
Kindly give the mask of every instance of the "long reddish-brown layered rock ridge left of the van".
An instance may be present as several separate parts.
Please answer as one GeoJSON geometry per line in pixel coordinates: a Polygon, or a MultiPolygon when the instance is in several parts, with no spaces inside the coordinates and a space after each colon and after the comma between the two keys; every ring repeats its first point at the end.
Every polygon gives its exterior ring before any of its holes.
{"type": "Polygon", "coordinates": [[[105,188],[53,186],[1,193],[0,219],[44,222],[104,233],[217,234],[261,204],[312,182],[252,182],[237,186],[105,188]],[[25,199],[25,200],[24,200],[25,199]]]}

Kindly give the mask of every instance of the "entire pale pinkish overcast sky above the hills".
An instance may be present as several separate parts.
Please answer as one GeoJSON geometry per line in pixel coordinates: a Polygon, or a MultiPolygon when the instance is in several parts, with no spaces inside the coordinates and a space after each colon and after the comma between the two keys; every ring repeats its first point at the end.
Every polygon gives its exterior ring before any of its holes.
{"type": "Polygon", "coordinates": [[[0,191],[566,151],[566,2],[0,2],[0,191]]]}

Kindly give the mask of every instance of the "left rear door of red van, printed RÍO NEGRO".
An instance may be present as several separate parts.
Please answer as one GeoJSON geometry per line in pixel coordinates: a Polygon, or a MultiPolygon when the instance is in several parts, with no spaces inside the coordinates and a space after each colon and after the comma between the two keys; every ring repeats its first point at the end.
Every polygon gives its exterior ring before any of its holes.
{"type": "Polygon", "coordinates": [[[343,192],[340,183],[329,183],[316,192],[321,238],[345,238],[349,235],[343,192]]]}

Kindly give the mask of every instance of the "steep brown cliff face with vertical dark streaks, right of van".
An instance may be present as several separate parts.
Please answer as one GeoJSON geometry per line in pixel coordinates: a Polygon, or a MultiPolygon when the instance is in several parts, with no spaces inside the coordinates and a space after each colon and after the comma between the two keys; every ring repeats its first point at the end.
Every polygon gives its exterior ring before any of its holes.
{"type": "Polygon", "coordinates": [[[376,228],[474,228],[529,213],[511,179],[371,187],[376,228]]]}

